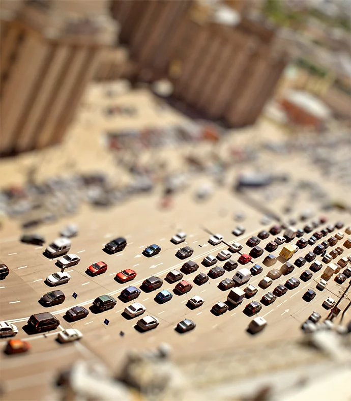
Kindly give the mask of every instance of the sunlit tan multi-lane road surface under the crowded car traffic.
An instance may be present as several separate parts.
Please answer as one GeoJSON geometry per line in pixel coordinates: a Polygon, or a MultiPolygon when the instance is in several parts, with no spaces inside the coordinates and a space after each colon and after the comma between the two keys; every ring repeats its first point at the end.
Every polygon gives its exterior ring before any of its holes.
{"type": "MultiPolygon", "coordinates": [[[[55,266],[56,260],[49,260],[42,254],[45,246],[22,244],[18,241],[19,232],[5,230],[4,233],[3,230],[1,259],[9,266],[10,275],[0,281],[1,320],[15,324],[19,329],[17,337],[30,341],[32,345],[32,349],[27,354],[17,356],[2,354],[0,356],[1,380],[5,390],[3,399],[34,400],[44,397],[48,399],[48,394],[53,391],[50,386],[57,371],[68,367],[78,358],[92,360],[101,358],[109,367],[116,369],[128,349],[151,349],[162,342],[166,342],[172,347],[174,359],[183,361],[187,358],[195,358],[204,352],[214,352],[226,348],[242,349],[259,343],[268,344],[280,339],[299,338],[302,335],[300,326],[310,313],[317,311],[325,319],[329,311],[324,309],[321,304],[329,296],[338,300],[349,282],[348,279],[340,285],[331,279],[324,291],[317,290],[316,297],[311,302],[306,302],[302,299],[303,294],[308,289],[315,288],[316,281],[323,273],[324,268],[314,273],[311,280],[301,281],[297,289],[289,290],[270,306],[262,307],[258,316],[264,317],[268,321],[268,326],[262,333],[255,336],[246,331],[253,317],[248,317],[243,313],[245,305],[253,300],[259,301],[265,293],[272,291],[276,285],[284,283],[288,278],[299,277],[311,263],[306,263],[302,268],[296,267],[289,275],[275,280],[268,289],[259,289],[256,296],[250,300],[244,299],[241,305],[228,310],[219,317],[212,314],[210,309],[216,302],[225,301],[228,291],[221,291],[217,285],[223,278],[231,278],[235,271],[226,272],[217,279],[210,278],[206,284],[201,286],[193,284],[193,289],[189,293],[182,296],[174,294],[169,302],[161,305],[154,301],[154,297],[160,290],[151,293],[142,291],[139,298],[133,302],[144,304],[147,308],[146,313],[157,317],[160,325],[154,330],[140,333],[134,328],[136,321],[140,318],[127,320],[122,316],[124,308],[131,303],[125,304],[118,299],[119,293],[124,288],[129,285],[140,287],[142,281],[151,275],[164,279],[167,272],[179,269],[186,262],[175,256],[177,249],[181,246],[188,245],[194,248],[194,254],[190,259],[199,264],[206,255],[216,256],[221,249],[227,248],[225,244],[210,245],[208,232],[222,234],[226,242],[240,242],[243,245],[242,253],[248,253],[250,248],[245,244],[246,240],[275,223],[272,221],[265,226],[260,224],[262,214],[235,197],[227,187],[216,188],[213,196],[204,202],[195,202],[193,192],[187,191],[174,197],[173,207],[169,210],[160,209],[159,204],[160,195],[155,193],[140,196],[112,209],[83,210],[74,219],[79,226],[79,235],[72,238],[70,250],[71,253],[77,253],[81,257],[81,261],[77,266],[67,269],[71,280],[67,284],[57,287],[65,293],[65,302],[51,308],[44,308],[38,303],[38,300],[43,294],[51,291],[44,280],[49,274],[60,270],[55,266]],[[238,211],[242,211],[248,216],[240,223],[233,220],[233,215],[238,211]],[[231,234],[233,228],[238,224],[246,228],[245,234],[241,237],[231,234]],[[187,240],[183,244],[174,245],[170,242],[170,238],[178,231],[185,231],[187,240]],[[127,239],[128,245],[124,251],[112,255],[105,253],[103,251],[105,243],[119,236],[127,239]],[[143,256],[142,250],[153,243],[162,247],[160,254],[150,258],[143,256]],[[97,277],[88,276],[85,273],[86,268],[98,261],[108,264],[107,272],[97,277]],[[125,268],[136,270],[137,277],[127,284],[120,284],[114,280],[114,276],[125,268]],[[74,292],[78,294],[77,299],[72,297],[74,292]],[[89,308],[93,300],[103,294],[112,295],[117,299],[117,304],[113,309],[97,314],[90,312],[85,319],[75,323],[69,323],[63,318],[69,308],[75,305],[89,308]],[[201,296],[205,302],[199,308],[191,310],[186,303],[194,295],[201,296]],[[43,311],[55,314],[60,320],[60,326],[57,330],[46,334],[28,335],[23,330],[28,317],[33,313],[43,311]],[[196,328],[189,333],[179,334],[174,328],[184,318],[192,319],[196,323],[196,328]],[[108,325],[104,324],[105,319],[109,320],[108,325]],[[69,327],[79,329],[83,333],[83,338],[79,342],[60,345],[55,341],[56,334],[69,327]],[[120,335],[121,331],[124,332],[123,336],[120,335]]],[[[270,202],[270,206],[273,208],[278,207],[278,204],[283,204],[282,198],[278,197],[275,201],[270,202]]],[[[301,198],[299,204],[296,205],[296,215],[305,206],[305,199],[301,198]]],[[[316,217],[320,214],[317,214],[316,217]]],[[[345,226],[341,231],[351,223],[349,214],[331,211],[327,216],[329,221],[325,225],[338,220],[344,221],[345,226]]],[[[62,220],[60,223],[44,226],[37,232],[45,236],[46,244],[48,244],[58,237],[58,232],[67,222],[69,221],[62,220]]],[[[304,222],[299,222],[297,226],[300,227],[304,224],[304,222]]],[[[318,229],[322,227],[320,226],[318,229]]],[[[309,238],[311,234],[305,234],[304,238],[309,238]]],[[[259,246],[264,248],[266,243],[273,238],[270,236],[261,241],[259,246]]],[[[293,243],[295,242],[293,241],[293,243]]],[[[338,244],[332,248],[342,246],[343,242],[344,240],[338,241],[338,244]]],[[[278,255],[282,246],[280,245],[273,253],[278,255]]],[[[293,257],[293,261],[299,256],[305,255],[314,246],[299,250],[293,257]]],[[[328,248],[328,251],[330,250],[331,248],[328,248]]],[[[264,267],[264,271],[258,276],[253,276],[249,284],[257,285],[269,270],[282,265],[281,261],[278,261],[273,267],[263,265],[261,262],[269,253],[265,251],[262,256],[253,259],[254,263],[264,267]]],[[[348,253],[349,249],[345,249],[342,256],[348,253]]],[[[238,257],[239,254],[235,253],[231,259],[238,260],[238,257]]],[[[320,260],[321,258],[318,256],[316,259],[320,260]]],[[[224,262],[218,263],[219,266],[223,266],[223,264],[224,262]]],[[[245,267],[250,268],[250,265],[245,267]]],[[[236,270],[240,267],[239,265],[236,270]]],[[[192,282],[200,271],[208,272],[209,269],[200,265],[198,271],[185,275],[184,279],[192,282]]],[[[168,284],[164,281],[161,289],[172,292],[175,285],[176,283],[168,284]]],[[[345,300],[345,302],[348,301],[345,300]]],[[[342,306],[343,303],[341,303],[342,306]]],[[[6,340],[3,339],[0,342],[5,347],[6,340]]]]}

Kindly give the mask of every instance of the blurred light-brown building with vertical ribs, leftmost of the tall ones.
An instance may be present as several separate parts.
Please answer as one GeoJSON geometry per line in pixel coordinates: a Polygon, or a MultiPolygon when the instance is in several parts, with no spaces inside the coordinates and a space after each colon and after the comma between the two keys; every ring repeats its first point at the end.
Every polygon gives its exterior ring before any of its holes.
{"type": "Polygon", "coordinates": [[[118,37],[108,2],[0,4],[2,155],[58,144],[95,72],[118,37]]]}

